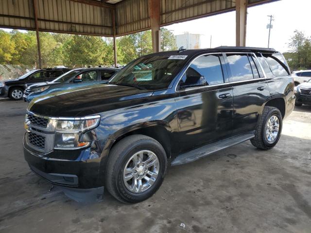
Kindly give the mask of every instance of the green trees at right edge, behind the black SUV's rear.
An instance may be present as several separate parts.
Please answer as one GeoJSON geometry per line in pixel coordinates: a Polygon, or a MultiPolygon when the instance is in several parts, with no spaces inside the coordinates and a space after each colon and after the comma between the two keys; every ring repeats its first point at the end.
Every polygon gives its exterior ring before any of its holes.
{"type": "Polygon", "coordinates": [[[311,37],[304,33],[294,31],[290,43],[290,52],[284,53],[292,70],[311,68],[311,37]]]}

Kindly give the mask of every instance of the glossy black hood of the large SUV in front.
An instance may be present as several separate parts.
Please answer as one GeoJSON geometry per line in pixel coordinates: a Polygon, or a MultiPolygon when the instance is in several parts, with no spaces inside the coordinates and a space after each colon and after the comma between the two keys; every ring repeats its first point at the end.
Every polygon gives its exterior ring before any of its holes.
{"type": "Polygon", "coordinates": [[[28,110],[43,116],[88,116],[144,103],[152,94],[151,90],[100,84],[35,98],[30,102],[28,110]]]}

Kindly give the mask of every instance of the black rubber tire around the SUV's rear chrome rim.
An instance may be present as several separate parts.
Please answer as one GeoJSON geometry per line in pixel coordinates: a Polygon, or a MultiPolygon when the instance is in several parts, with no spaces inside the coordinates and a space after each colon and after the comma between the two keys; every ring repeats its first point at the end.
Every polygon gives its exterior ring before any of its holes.
{"type": "Polygon", "coordinates": [[[255,137],[252,138],[250,141],[253,144],[254,147],[257,147],[261,150],[269,150],[273,148],[276,143],[278,142],[281,133],[282,133],[282,125],[283,125],[283,118],[281,112],[276,107],[268,107],[265,106],[262,111],[262,115],[259,120],[259,124],[257,126],[257,129],[255,131],[255,137]],[[265,136],[265,126],[267,124],[267,121],[270,119],[271,116],[276,116],[279,121],[279,129],[278,129],[278,135],[276,139],[271,143],[268,142],[265,136]]]}

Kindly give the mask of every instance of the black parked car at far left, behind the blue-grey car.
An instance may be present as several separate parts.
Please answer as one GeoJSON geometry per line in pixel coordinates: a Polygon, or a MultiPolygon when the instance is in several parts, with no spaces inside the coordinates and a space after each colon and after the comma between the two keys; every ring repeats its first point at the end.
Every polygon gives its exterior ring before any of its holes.
{"type": "Polygon", "coordinates": [[[49,82],[66,73],[68,68],[47,68],[32,70],[16,80],[0,82],[0,97],[9,97],[12,100],[21,100],[28,85],[49,82]]]}

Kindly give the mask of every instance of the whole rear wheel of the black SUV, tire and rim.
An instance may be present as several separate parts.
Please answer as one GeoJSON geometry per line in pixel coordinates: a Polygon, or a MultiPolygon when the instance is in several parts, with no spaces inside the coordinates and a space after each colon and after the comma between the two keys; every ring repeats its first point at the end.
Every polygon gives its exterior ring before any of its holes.
{"type": "Polygon", "coordinates": [[[282,132],[283,118],[276,107],[264,107],[255,137],[251,139],[253,146],[269,150],[278,142],[282,132]]]}

